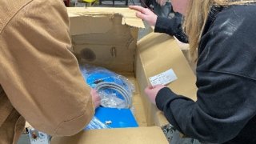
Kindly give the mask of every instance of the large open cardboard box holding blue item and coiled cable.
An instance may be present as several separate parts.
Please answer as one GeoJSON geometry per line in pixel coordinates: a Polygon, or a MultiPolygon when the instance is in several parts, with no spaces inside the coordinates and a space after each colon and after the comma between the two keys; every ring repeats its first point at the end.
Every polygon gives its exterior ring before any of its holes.
{"type": "Polygon", "coordinates": [[[150,85],[150,77],[171,68],[178,79],[168,86],[195,100],[194,73],[175,39],[151,33],[137,42],[138,28],[144,25],[128,8],[69,8],[68,13],[78,61],[114,70],[134,83],[134,115],[139,127],[82,131],[72,137],[53,138],[51,143],[168,143],[161,130],[168,122],[146,98],[144,89],[150,85]]]}

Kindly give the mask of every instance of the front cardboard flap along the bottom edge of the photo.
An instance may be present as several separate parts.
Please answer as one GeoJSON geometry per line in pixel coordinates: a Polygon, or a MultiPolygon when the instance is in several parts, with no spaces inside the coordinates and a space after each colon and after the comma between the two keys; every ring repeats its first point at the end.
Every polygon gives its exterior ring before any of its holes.
{"type": "Polygon", "coordinates": [[[168,144],[159,127],[82,131],[71,137],[53,138],[51,144],[168,144]]]}

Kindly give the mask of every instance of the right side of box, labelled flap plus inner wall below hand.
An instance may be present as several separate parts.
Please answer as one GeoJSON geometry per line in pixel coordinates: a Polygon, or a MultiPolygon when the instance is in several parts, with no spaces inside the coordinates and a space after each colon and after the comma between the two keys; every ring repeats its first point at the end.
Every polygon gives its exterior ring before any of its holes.
{"type": "MultiPolygon", "coordinates": [[[[174,38],[167,34],[151,33],[138,42],[137,50],[136,78],[141,91],[150,85],[148,78],[173,69],[178,79],[168,85],[170,89],[177,94],[196,100],[196,78],[174,38]]],[[[146,96],[142,98],[144,98],[143,105],[148,126],[166,125],[168,122],[162,112],[153,106],[146,96]]]]}

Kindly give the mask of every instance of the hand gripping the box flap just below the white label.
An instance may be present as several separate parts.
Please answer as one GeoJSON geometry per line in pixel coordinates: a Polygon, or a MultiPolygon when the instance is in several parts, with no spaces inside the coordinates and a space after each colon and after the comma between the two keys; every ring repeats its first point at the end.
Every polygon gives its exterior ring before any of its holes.
{"type": "Polygon", "coordinates": [[[157,97],[158,91],[166,86],[157,85],[157,86],[147,86],[145,89],[145,93],[148,98],[150,98],[150,102],[155,105],[155,98],[157,97]]]}

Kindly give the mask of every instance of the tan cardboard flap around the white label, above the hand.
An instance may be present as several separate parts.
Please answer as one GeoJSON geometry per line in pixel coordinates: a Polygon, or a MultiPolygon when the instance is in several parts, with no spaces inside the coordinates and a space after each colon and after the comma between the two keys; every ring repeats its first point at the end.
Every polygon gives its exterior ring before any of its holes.
{"type": "Polygon", "coordinates": [[[148,34],[138,42],[138,53],[147,78],[171,68],[178,79],[168,85],[170,89],[196,100],[194,73],[174,38],[167,34],[148,34]]]}

